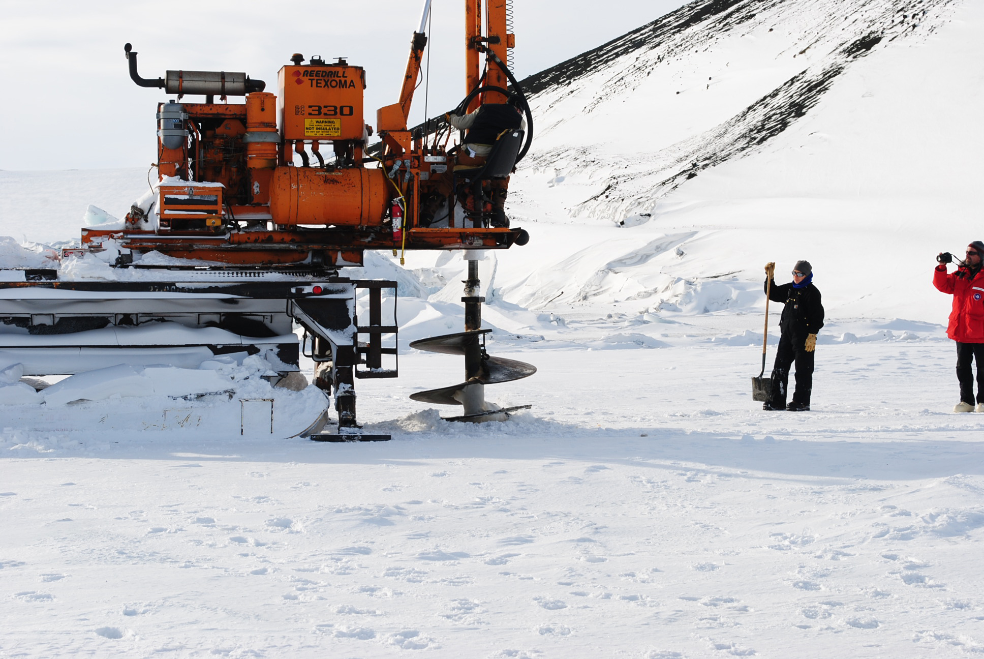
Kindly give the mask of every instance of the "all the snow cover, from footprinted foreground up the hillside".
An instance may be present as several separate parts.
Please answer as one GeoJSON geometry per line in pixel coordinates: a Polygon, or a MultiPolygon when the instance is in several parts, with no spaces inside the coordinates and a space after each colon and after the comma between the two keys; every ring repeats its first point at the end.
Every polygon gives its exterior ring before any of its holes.
{"type": "MultiPolygon", "coordinates": [[[[984,416],[949,412],[930,284],[982,237],[984,6],[701,0],[646,30],[537,93],[509,205],[532,237],[481,262],[489,352],[539,369],[487,396],[531,410],[407,398],[461,379],[405,349],[461,329],[451,253],[346,273],[400,281],[400,378],[357,385],[393,441],[110,433],[153,402],[112,392],[54,429],[2,406],[0,656],[984,652],[984,416]],[[829,316],[813,412],[767,413],[762,267],[800,258],[829,316]]],[[[146,178],[0,172],[0,259],[49,263],[19,243],[121,217],[146,178]]]]}

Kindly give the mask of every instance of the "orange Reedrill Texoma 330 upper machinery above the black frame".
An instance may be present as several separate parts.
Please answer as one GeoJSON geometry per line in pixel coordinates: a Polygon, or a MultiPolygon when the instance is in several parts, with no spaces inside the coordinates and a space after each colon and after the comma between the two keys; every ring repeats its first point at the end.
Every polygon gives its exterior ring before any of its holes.
{"type": "MultiPolygon", "coordinates": [[[[488,3],[485,31],[481,4],[465,2],[468,96],[463,105],[468,110],[505,102],[512,79],[507,61],[513,34],[506,33],[506,0],[488,3]]],[[[361,264],[366,249],[503,249],[524,244],[528,235],[522,229],[490,226],[487,200],[468,204],[465,213],[452,213],[444,227],[421,216],[421,200],[433,198],[438,188],[472,193],[476,185],[469,174],[484,174],[486,181],[503,177],[461,170],[461,154],[449,154],[438,144],[442,131],[431,131],[430,122],[414,130],[407,127],[427,42],[423,30],[428,10],[429,2],[420,31],[413,34],[400,100],[376,114],[379,157],[367,157],[373,128],[363,119],[365,71],[344,59],[327,63],[312,57],[304,63],[302,55],[294,54],[291,64],[277,73],[275,96],[264,92],[263,81],[244,73],[168,71],[164,78],[142,78],[137,52],[126,44],[134,82],[177,95],[176,101],[157,106],[160,185],[154,213],[135,207],[125,231],[87,229],[83,245],[114,238],[131,254],[158,251],[241,266],[331,268],[361,264]],[[206,102],[182,102],[184,96],[195,95],[204,95],[206,102]],[[215,103],[216,96],[245,96],[246,102],[215,103]],[[327,159],[323,149],[330,149],[327,159]],[[294,166],[295,154],[301,166],[294,166]],[[312,166],[315,160],[317,166],[312,166]],[[197,184],[206,182],[210,185],[197,184]]],[[[515,79],[512,84],[514,93],[522,94],[515,79]]],[[[447,126],[435,122],[434,128],[447,126]]],[[[528,130],[515,132],[497,145],[507,171],[522,157],[518,143],[524,140],[528,147],[528,130]]]]}

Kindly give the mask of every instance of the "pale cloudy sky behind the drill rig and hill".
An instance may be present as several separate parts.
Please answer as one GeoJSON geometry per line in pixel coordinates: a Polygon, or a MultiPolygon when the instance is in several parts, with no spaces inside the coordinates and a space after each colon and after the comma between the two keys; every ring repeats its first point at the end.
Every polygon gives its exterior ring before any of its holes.
{"type": "MultiPolygon", "coordinates": [[[[464,7],[433,0],[428,113],[464,96],[464,7]]],[[[515,0],[514,71],[532,73],[627,33],[683,0],[607,0],[603,5],[515,0]]],[[[140,73],[167,69],[245,71],[277,92],[291,53],[347,57],[366,69],[366,121],[396,102],[423,0],[335,0],[313,5],[259,0],[0,0],[0,169],[89,169],[150,165],[162,90],[134,85],[123,44],[140,73]]],[[[425,86],[410,121],[424,116],[425,86]]],[[[241,101],[241,99],[233,99],[241,101]]]]}

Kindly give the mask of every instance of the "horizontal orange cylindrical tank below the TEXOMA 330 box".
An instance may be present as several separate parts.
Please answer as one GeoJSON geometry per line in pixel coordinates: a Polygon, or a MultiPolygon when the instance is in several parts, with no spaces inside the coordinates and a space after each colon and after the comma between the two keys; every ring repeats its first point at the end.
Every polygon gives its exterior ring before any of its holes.
{"type": "Polygon", "coordinates": [[[277,225],[379,227],[390,196],[387,184],[382,169],[280,166],[270,212],[277,225]]]}

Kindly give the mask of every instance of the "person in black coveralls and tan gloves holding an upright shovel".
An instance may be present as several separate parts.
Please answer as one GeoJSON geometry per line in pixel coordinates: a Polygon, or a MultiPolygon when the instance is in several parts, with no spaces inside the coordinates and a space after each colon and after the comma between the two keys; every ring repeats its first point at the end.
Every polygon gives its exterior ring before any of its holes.
{"type": "Polygon", "coordinates": [[[771,397],[763,410],[810,410],[810,392],[813,389],[814,351],[817,348],[817,332],[824,326],[824,305],[820,291],[813,285],[813,268],[809,261],[797,261],[793,267],[793,281],[776,286],[772,275],[775,264],[766,266],[766,286],[769,299],[784,302],[779,319],[779,349],[772,366],[771,397]],[[789,383],[789,366],[796,363],[796,391],[786,405],[786,389],[789,383]]]}

